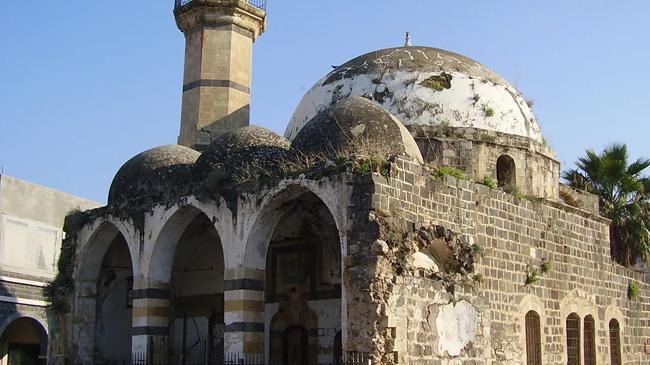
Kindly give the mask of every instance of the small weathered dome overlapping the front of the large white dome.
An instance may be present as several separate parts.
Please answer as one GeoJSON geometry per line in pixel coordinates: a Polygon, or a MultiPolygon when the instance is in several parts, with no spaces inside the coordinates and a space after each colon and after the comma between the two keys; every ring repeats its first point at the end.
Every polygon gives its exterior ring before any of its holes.
{"type": "Polygon", "coordinates": [[[358,96],[318,113],[300,130],[291,148],[330,158],[341,151],[370,149],[365,152],[409,156],[422,163],[420,150],[404,125],[377,103],[358,96]]]}

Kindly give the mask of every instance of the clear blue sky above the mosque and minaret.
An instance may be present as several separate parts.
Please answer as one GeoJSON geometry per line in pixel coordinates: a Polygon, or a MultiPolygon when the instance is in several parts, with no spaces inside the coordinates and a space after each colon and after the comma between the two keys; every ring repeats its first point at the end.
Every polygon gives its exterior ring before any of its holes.
{"type": "MultiPolygon", "coordinates": [[[[252,122],[283,133],[311,85],[403,44],[474,58],[528,99],[564,167],[585,148],[650,156],[650,2],[268,0],[252,122]]],[[[106,201],[122,163],[175,143],[184,38],[173,0],[0,3],[0,164],[106,201]]]]}

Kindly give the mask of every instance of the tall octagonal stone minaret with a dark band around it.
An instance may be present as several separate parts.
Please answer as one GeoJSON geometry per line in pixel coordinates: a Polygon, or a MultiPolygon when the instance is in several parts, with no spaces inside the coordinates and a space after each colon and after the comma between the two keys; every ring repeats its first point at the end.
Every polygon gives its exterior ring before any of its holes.
{"type": "Polygon", "coordinates": [[[266,30],[266,0],[176,0],[185,34],[178,144],[202,150],[249,124],[253,42],[266,30]]]}

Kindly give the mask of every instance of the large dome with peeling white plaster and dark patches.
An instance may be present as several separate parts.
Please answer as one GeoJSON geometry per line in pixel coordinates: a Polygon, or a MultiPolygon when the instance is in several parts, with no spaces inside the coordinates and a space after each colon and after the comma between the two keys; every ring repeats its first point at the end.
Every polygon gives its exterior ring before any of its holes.
{"type": "Polygon", "coordinates": [[[285,136],[292,140],[319,112],[351,96],[377,102],[406,126],[470,127],[543,141],[512,85],[472,59],[428,47],[384,49],[337,67],[303,97],[285,136]]]}

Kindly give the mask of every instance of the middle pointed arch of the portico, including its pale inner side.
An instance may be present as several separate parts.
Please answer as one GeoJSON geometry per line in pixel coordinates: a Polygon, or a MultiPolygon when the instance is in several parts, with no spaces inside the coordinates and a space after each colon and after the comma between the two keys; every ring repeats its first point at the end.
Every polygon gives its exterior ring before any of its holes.
{"type": "MultiPolygon", "coordinates": [[[[188,344],[205,340],[210,351],[222,352],[225,252],[221,234],[213,219],[195,205],[177,206],[167,213],[144,265],[149,288],[168,294],[168,304],[156,308],[158,322],[164,324],[161,334],[184,338],[188,344]]],[[[183,353],[180,344],[172,346],[174,353],[183,353]]]]}

